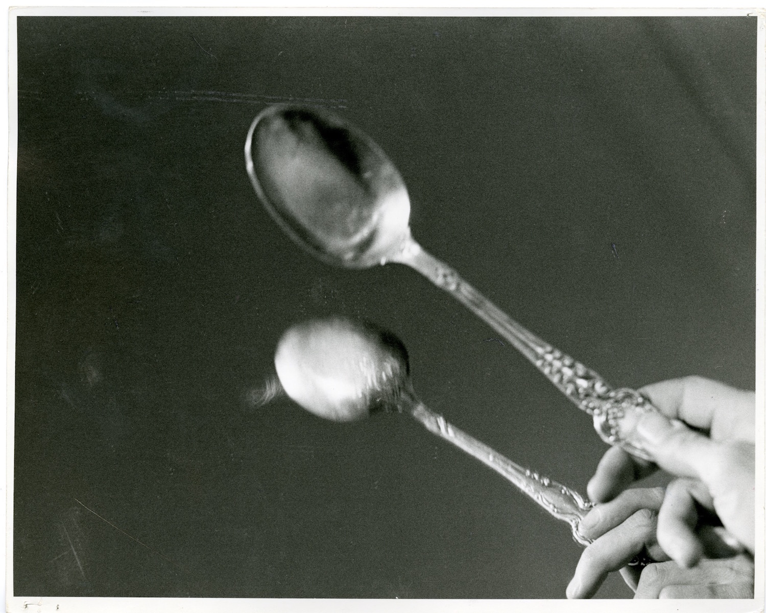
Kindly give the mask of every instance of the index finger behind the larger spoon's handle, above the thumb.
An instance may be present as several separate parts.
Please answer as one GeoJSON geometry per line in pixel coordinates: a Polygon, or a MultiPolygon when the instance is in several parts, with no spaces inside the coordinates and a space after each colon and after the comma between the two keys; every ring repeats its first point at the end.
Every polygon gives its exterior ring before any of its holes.
{"type": "Polygon", "coordinates": [[[709,432],[714,440],[755,441],[755,393],[719,381],[683,377],[640,390],[670,419],[709,432]]]}

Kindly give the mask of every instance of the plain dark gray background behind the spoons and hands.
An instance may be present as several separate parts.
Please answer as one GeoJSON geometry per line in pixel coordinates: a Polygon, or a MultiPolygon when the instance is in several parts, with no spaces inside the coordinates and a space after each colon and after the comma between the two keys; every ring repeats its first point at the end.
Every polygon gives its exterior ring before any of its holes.
{"type": "Polygon", "coordinates": [[[568,527],[411,419],[254,406],[280,334],[344,313],[401,336],[424,401],[517,462],[584,491],[605,450],[415,272],[296,249],[250,187],[247,128],[273,102],[352,119],[417,240],[612,383],[752,388],[755,35],[19,18],[15,595],[563,598],[568,527]]]}

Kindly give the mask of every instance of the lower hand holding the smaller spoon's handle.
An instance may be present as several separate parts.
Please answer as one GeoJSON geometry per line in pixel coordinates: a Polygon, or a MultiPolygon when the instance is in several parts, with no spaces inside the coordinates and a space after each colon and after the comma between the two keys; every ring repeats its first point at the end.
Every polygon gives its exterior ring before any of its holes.
{"type": "Polygon", "coordinates": [[[739,555],[741,546],[737,549],[738,543],[732,543],[721,527],[706,526],[697,533],[705,555],[716,559],[704,559],[694,569],[668,561],[656,540],[664,496],[663,487],[628,489],[583,518],[578,531],[593,543],[578,562],[568,598],[591,598],[607,575],[618,569],[636,598],[752,598],[751,559],[739,555]],[[643,569],[625,566],[640,553],[657,563],[643,569]]]}

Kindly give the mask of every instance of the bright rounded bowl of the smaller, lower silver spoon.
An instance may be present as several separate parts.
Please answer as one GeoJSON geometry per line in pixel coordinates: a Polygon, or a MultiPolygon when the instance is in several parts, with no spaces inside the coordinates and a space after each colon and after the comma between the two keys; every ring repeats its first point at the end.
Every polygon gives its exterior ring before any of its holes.
{"type": "Polygon", "coordinates": [[[404,344],[372,324],[349,318],[294,325],[277,344],[274,366],[287,396],[336,422],[398,410],[408,388],[404,344]]]}

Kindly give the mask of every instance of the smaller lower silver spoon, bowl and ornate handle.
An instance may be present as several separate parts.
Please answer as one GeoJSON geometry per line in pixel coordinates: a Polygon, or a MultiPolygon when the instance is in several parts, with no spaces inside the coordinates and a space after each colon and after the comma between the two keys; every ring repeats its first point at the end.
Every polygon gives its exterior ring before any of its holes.
{"type": "Polygon", "coordinates": [[[349,422],[375,412],[409,413],[567,522],[578,543],[591,543],[578,530],[591,502],[510,461],[430,411],[414,393],[407,350],[394,334],[347,318],[306,321],[283,334],[274,365],[287,396],[320,417],[349,422]]]}

